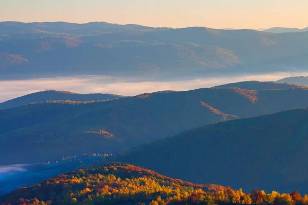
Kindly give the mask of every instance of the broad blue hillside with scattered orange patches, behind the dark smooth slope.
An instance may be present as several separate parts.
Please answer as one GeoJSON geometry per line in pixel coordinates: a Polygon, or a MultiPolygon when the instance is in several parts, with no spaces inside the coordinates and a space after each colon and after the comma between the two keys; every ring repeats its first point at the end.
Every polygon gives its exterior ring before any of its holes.
{"type": "Polygon", "coordinates": [[[206,124],[302,108],[307,103],[305,88],[205,88],[0,110],[0,155],[6,156],[0,165],[117,153],[206,124]]]}

